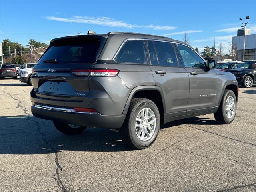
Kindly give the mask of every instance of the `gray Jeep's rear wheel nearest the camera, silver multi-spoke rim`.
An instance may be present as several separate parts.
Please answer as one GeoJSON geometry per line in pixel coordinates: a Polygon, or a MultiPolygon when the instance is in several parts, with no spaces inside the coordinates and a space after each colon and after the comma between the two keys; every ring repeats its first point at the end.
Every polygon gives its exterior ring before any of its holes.
{"type": "Polygon", "coordinates": [[[134,98],[126,120],[120,129],[122,141],[134,149],[151,146],[160,130],[160,114],[154,102],[145,98],[134,98]]]}

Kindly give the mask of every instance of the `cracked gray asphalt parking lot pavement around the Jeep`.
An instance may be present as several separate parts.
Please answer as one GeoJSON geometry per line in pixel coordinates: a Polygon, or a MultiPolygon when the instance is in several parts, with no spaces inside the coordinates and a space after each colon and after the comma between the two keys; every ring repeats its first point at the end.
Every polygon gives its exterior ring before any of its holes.
{"type": "Polygon", "coordinates": [[[58,132],[32,116],[31,88],[0,80],[0,192],[256,191],[256,86],[240,88],[231,124],[170,122],[145,150],[113,130],[58,132]]]}

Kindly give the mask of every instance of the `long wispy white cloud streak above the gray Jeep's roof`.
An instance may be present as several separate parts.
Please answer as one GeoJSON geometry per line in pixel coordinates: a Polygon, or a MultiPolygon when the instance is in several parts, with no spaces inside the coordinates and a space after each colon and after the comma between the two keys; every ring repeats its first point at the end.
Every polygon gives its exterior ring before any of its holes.
{"type": "Polygon", "coordinates": [[[160,25],[136,25],[136,24],[128,24],[123,21],[115,20],[109,17],[88,17],[88,16],[74,16],[72,18],[61,18],[48,16],[46,17],[48,20],[54,21],[62,21],[62,22],[70,22],[70,23],[86,23],[86,24],[94,24],[100,26],[109,26],[109,27],[120,27],[120,28],[150,28],[153,30],[173,30],[176,27],[173,26],[160,26],[160,25]]]}

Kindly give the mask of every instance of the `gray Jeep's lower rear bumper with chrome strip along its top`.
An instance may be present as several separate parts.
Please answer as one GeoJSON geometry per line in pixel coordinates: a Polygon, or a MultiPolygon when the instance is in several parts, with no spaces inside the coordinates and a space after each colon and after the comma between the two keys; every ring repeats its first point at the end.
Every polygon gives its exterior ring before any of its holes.
{"type": "Polygon", "coordinates": [[[71,112],[72,110],[70,109],[62,110],[63,111],[61,111],[60,108],[57,110],[57,108],[46,109],[40,106],[31,106],[31,112],[37,118],[98,128],[119,129],[124,123],[126,116],[125,114],[120,116],[107,116],[99,113],[71,112]]]}

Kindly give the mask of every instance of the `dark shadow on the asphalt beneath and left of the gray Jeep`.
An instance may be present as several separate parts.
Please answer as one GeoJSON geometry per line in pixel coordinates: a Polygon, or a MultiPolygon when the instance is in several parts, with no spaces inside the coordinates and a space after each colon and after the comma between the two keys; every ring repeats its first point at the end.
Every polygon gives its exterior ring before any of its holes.
{"type": "MultiPolygon", "coordinates": [[[[117,131],[86,128],[82,134],[65,135],[51,121],[34,116],[0,117],[0,154],[48,154],[60,151],[130,151],[117,131]]],[[[179,124],[216,124],[207,118],[189,118],[164,124],[161,129],[179,124]]]]}

